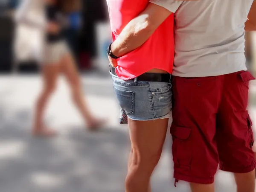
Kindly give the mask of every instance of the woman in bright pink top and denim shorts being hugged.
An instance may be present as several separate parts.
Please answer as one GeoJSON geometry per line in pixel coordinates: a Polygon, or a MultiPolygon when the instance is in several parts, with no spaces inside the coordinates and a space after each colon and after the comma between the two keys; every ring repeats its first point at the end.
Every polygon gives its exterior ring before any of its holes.
{"type": "MultiPolygon", "coordinates": [[[[114,41],[128,22],[148,6],[149,1],[107,2],[114,41]]],[[[171,117],[173,26],[174,16],[170,15],[145,44],[118,58],[116,66],[110,65],[116,98],[128,116],[130,130],[126,192],[150,191],[150,177],[162,153],[171,117]]],[[[117,58],[111,52],[111,45],[108,56],[117,58]]]]}

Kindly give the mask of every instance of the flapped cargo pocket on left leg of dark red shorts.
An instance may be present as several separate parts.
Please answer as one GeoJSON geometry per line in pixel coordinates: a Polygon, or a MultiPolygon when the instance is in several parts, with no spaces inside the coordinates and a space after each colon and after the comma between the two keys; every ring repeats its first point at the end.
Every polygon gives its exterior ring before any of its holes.
{"type": "Polygon", "coordinates": [[[172,155],[174,166],[180,169],[190,169],[192,161],[191,128],[172,125],[172,155]]]}

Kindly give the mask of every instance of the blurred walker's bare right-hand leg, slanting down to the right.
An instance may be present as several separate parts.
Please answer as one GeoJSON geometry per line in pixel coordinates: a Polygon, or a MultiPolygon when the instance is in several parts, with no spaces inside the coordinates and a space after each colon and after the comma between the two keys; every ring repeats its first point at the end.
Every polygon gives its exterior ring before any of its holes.
{"type": "Polygon", "coordinates": [[[88,105],[84,99],[79,72],[76,68],[75,60],[70,53],[66,53],[61,59],[61,70],[70,84],[73,101],[81,112],[87,124],[87,128],[93,129],[101,126],[105,121],[93,116],[92,112],[88,108],[88,105]]]}

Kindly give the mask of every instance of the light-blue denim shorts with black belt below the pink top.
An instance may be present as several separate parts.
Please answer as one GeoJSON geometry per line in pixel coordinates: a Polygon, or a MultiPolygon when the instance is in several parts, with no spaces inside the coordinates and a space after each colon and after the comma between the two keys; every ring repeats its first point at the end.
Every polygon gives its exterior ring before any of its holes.
{"type": "Polygon", "coordinates": [[[110,74],[116,99],[129,119],[145,121],[171,117],[171,79],[169,82],[122,80],[110,74]]]}

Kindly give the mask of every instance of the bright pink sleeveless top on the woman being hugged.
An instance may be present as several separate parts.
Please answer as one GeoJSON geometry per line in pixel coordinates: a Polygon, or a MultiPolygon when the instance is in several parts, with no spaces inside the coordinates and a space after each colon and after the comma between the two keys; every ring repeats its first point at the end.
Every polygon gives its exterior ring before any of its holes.
{"type": "MultiPolygon", "coordinates": [[[[148,5],[149,0],[107,0],[113,41],[122,29],[148,5]]],[[[117,60],[116,74],[133,79],[151,69],[172,73],[174,60],[174,15],[170,15],[139,48],[117,60]]]]}

